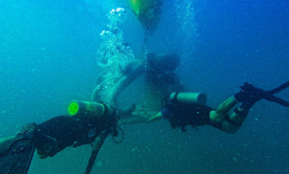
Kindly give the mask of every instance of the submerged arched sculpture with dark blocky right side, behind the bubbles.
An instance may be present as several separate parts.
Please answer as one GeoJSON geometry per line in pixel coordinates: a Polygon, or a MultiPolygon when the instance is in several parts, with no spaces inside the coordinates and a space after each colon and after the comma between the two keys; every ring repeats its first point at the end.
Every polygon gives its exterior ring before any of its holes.
{"type": "MultiPolygon", "coordinates": [[[[169,95],[176,89],[183,90],[179,78],[173,72],[180,65],[180,59],[177,54],[154,54],[148,55],[148,71],[149,73],[149,86],[158,85],[158,89],[164,90],[160,93],[161,96],[169,95]],[[171,88],[170,90],[168,88],[171,88]]],[[[110,97],[113,99],[113,103],[117,106],[117,96],[133,82],[136,77],[145,73],[145,64],[143,60],[131,61],[126,67],[121,69],[121,78],[112,86],[110,90],[110,97]]],[[[97,87],[92,93],[92,102],[102,100],[100,94],[102,90],[105,90],[105,86],[110,82],[110,79],[103,78],[104,73],[101,73],[97,79],[97,87]]],[[[159,92],[155,91],[155,92],[159,92]]],[[[148,92],[153,96],[152,93],[148,92]]],[[[160,99],[158,98],[158,103],[160,99]]]]}

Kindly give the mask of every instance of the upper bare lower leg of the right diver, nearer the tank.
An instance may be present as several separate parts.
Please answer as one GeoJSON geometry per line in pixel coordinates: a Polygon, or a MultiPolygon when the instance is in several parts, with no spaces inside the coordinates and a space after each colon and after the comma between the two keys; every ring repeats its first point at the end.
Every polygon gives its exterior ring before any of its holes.
{"type": "Polygon", "coordinates": [[[221,122],[223,118],[227,115],[229,110],[231,110],[238,101],[235,99],[234,96],[230,97],[226,101],[224,101],[221,105],[219,105],[216,111],[210,112],[210,119],[213,122],[221,122]]]}

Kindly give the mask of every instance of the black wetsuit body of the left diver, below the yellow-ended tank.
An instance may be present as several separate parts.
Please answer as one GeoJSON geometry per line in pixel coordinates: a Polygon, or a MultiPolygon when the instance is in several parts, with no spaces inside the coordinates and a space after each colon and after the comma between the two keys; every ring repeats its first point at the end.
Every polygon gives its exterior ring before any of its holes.
{"type": "Polygon", "coordinates": [[[35,147],[39,154],[54,156],[68,146],[92,143],[102,130],[112,132],[116,121],[108,122],[104,117],[88,120],[57,116],[36,126],[35,147]]]}

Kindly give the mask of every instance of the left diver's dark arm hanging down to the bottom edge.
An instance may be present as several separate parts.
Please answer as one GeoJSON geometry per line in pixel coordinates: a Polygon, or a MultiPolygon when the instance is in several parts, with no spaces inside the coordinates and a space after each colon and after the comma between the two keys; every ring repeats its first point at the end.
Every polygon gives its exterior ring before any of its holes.
{"type": "Polygon", "coordinates": [[[101,146],[103,145],[103,142],[105,140],[105,138],[108,136],[108,132],[107,130],[103,130],[99,136],[97,136],[95,138],[95,141],[93,143],[93,146],[92,146],[92,152],[91,152],[91,156],[89,158],[89,161],[88,161],[88,164],[86,166],[86,170],[85,170],[85,174],[89,174],[92,167],[93,167],[93,164],[95,162],[95,159],[96,159],[96,156],[101,148],[101,146]]]}

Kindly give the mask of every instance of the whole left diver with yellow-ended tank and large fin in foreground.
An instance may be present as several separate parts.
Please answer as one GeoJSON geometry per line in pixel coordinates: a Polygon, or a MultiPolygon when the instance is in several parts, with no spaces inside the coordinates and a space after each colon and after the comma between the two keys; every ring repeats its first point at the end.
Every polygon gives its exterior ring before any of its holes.
{"type": "Polygon", "coordinates": [[[133,103],[124,111],[103,103],[71,101],[68,116],[57,116],[38,125],[28,123],[15,137],[0,139],[0,147],[9,144],[0,151],[1,173],[27,173],[35,149],[40,158],[47,158],[68,146],[91,144],[92,154],[85,172],[90,173],[105,138],[111,134],[115,141],[118,119],[130,116],[135,107],[133,103]]]}

